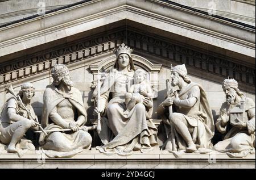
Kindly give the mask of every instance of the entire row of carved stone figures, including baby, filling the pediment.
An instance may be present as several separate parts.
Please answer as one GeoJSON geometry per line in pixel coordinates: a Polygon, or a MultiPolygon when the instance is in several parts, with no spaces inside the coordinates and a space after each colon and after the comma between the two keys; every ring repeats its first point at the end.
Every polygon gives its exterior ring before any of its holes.
{"type": "MultiPolygon", "coordinates": [[[[105,154],[129,154],[151,150],[169,152],[225,152],[230,157],[243,157],[255,152],[255,103],[238,89],[235,79],[225,79],[222,89],[226,102],[214,124],[212,110],[203,87],[188,77],[185,65],[171,69],[167,79],[167,96],[157,108],[164,129],[163,145],[158,144],[158,128],[152,120],[153,89],[143,69],[135,69],[132,49],[122,44],[115,49],[116,60],[108,74],[94,90],[94,115],[100,115],[98,131],[105,154]],[[224,139],[213,146],[215,128],[224,139]]],[[[51,69],[53,82],[43,95],[42,120],[31,106],[35,88],[23,83],[1,108],[0,143],[9,153],[21,149],[42,149],[52,157],[65,156],[90,149],[92,136],[86,127],[87,114],[79,89],[73,87],[67,66],[56,64],[51,69]],[[31,129],[40,133],[39,146],[24,138],[31,129]],[[57,154],[57,155],[56,155],[57,154]],[[55,156],[56,155],[56,156],[55,156]]]]}

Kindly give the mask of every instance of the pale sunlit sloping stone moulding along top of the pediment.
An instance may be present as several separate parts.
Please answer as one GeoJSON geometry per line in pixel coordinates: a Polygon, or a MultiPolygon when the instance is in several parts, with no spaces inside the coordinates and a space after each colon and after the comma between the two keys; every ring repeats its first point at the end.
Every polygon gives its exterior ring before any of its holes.
{"type": "Polygon", "coordinates": [[[117,1],[118,3],[110,3],[109,1],[92,1],[1,28],[0,56],[104,26],[118,20],[129,19],[255,57],[255,30],[248,30],[224,22],[224,20],[178,9],[175,6],[164,5],[163,7],[163,3],[158,1],[136,1],[136,3],[135,1],[125,0],[117,1]]]}

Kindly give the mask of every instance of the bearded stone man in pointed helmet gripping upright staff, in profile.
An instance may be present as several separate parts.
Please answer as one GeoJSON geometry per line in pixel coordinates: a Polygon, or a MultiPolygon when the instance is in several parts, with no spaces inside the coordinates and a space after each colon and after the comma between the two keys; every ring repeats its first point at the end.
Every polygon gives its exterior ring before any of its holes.
{"type": "Polygon", "coordinates": [[[177,150],[192,153],[198,148],[212,148],[214,122],[205,91],[199,84],[191,82],[184,64],[173,68],[171,85],[178,86],[179,92],[167,97],[158,107],[158,114],[163,122],[167,122],[167,129],[174,131],[169,135],[175,136],[168,137],[165,149],[176,150],[177,147],[177,150]],[[172,105],[174,112],[168,110],[172,105]]]}

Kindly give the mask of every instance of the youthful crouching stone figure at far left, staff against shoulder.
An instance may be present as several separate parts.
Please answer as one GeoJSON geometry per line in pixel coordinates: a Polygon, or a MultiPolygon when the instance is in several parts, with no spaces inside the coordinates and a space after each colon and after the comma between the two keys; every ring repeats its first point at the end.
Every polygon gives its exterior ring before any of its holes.
{"type": "Polygon", "coordinates": [[[28,129],[38,130],[40,125],[35,122],[37,117],[31,106],[31,99],[35,95],[34,86],[29,83],[23,83],[18,95],[14,94],[11,85],[7,91],[13,97],[7,99],[3,105],[0,116],[0,141],[3,144],[9,144],[7,152],[17,153],[18,149],[35,150],[32,141],[25,140],[24,135],[28,129]]]}

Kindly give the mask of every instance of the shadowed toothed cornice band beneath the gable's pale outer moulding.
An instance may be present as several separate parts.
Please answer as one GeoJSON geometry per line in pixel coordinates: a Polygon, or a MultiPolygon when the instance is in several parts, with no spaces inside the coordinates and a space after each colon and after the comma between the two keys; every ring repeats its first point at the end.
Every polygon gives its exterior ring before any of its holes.
{"type": "Polygon", "coordinates": [[[153,59],[157,57],[176,64],[185,63],[195,70],[212,74],[211,80],[213,81],[216,76],[222,78],[229,76],[236,78],[240,85],[246,85],[243,90],[250,92],[255,90],[255,68],[252,64],[246,64],[197,47],[187,46],[184,43],[165,39],[161,36],[144,34],[143,31],[131,27],[117,28],[2,63],[0,64],[0,85],[48,72],[53,61],[57,61],[59,64],[87,62],[90,57],[112,53],[113,49],[123,41],[135,50],[135,56],[139,52],[143,52],[153,59]]]}

